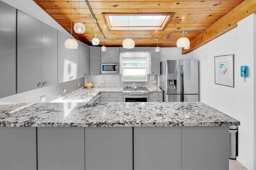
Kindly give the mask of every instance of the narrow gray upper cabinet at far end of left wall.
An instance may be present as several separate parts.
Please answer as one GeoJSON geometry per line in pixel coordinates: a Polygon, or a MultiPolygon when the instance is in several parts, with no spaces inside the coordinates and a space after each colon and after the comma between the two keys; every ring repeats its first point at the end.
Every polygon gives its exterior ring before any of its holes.
{"type": "Polygon", "coordinates": [[[79,42],[79,77],[90,75],[90,46],[79,42]]]}

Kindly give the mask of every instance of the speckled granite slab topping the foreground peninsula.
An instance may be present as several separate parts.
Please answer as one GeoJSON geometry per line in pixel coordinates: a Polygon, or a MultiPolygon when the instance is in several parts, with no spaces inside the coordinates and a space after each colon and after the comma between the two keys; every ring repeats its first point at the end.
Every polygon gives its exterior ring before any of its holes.
{"type": "Polygon", "coordinates": [[[240,122],[201,102],[0,103],[0,126],[229,126],[240,122]]]}

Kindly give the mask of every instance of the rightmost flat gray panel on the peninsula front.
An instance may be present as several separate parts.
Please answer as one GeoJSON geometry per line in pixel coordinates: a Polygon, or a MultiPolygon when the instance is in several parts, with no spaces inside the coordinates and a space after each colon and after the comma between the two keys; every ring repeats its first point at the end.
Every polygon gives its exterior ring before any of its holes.
{"type": "Polygon", "coordinates": [[[228,141],[228,126],[182,127],[182,170],[228,170],[228,141]]]}

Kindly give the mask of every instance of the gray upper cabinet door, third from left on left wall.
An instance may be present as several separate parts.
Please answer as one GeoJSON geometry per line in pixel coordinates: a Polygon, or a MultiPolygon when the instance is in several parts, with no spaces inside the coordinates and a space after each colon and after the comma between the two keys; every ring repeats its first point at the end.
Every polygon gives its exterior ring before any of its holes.
{"type": "Polygon", "coordinates": [[[57,29],[42,23],[42,86],[58,83],[57,29]]]}

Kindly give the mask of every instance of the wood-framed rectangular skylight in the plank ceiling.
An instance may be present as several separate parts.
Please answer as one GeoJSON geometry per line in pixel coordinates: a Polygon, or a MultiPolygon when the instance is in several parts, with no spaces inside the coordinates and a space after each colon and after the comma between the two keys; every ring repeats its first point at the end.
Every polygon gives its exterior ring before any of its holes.
{"type": "Polygon", "coordinates": [[[170,22],[172,13],[153,14],[114,14],[103,13],[108,29],[113,30],[164,30],[170,22]],[[129,21],[129,23],[128,23],[129,21]]]}

